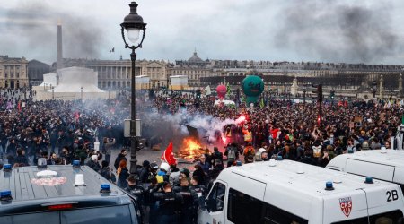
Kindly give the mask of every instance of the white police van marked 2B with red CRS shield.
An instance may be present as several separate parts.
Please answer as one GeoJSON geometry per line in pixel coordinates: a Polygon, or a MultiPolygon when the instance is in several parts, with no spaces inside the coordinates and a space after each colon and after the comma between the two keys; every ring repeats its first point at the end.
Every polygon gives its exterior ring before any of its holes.
{"type": "Polygon", "coordinates": [[[200,224],[403,223],[400,186],[291,160],[225,168],[200,224]]]}

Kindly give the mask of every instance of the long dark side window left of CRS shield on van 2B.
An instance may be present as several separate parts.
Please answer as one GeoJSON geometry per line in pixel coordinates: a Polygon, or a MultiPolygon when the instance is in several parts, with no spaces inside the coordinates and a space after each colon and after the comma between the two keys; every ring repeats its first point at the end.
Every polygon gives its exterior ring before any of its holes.
{"type": "Polygon", "coordinates": [[[264,223],[264,224],[307,224],[304,220],[292,213],[281,210],[271,204],[262,202],[248,194],[229,190],[229,206],[227,219],[233,223],[264,223]]]}

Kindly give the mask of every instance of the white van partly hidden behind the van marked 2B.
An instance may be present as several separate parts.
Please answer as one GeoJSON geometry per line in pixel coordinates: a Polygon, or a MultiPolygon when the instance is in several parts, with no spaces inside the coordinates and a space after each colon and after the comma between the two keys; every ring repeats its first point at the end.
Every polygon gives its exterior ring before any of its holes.
{"type": "Polygon", "coordinates": [[[336,156],[326,168],[396,183],[404,190],[404,151],[357,151],[336,156]]]}

